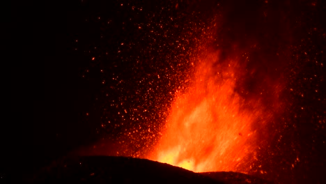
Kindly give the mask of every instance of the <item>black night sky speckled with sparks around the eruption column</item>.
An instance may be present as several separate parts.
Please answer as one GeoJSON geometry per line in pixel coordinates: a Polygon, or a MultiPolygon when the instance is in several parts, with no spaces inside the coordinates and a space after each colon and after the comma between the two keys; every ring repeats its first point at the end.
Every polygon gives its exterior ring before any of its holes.
{"type": "MultiPolygon", "coordinates": [[[[228,27],[228,30],[219,29],[224,39],[219,38],[217,42],[224,46],[226,54],[231,53],[227,52],[231,47],[229,43],[247,44],[251,38],[266,36],[257,36],[260,35],[260,30],[254,29],[259,27],[256,25],[261,21],[259,17],[254,17],[254,13],[241,15],[251,12],[251,9],[261,10],[263,1],[238,5],[236,1],[178,2],[176,6],[174,1],[84,0],[64,4],[44,3],[42,8],[36,8],[40,4],[31,2],[15,4],[13,17],[18,23],[13,27],[22,52],[17,54],[21,64],[12,67],[10,77],[19,79],[21,85],[9,83],[9,86],[16,92],[24,91],[24,95],[15,93],[15,97],[20,97],[13,98],[16,100],[10,102],[9,109],[22,112],[22,120],[10,118],[10,123],[2,129],[4,152],[1,156],[1,175],[26,169],[33,171],[81,146],[93,145],[103,137],[116,141],[125,132],[139,127],[143,130],[150,128],[156,134],[160,132],[160,128],[157,128],[160,123],[147,122],[165,120],[166,114],[156,112],[169,106],[173,98],[170,91],[180,85],[187,86],[184,81],[192,71],[189,62],[176,62],[178,59],[191,58],[187,50],[191,50],[196,42],[183,30],[209,20],[208,17],[215,13],[214,8],[220,7],[217,3],[221,3],[221,12],[225,15],[224,28],[228,27]],[[250,17],[254,17],[247,22],[251,27],[234,31],[242,29],[242,22],[250,17]],[[159,29],[160,26],[164,29],[159,29]],[[153,30],[155,35],[151,36],[153,30]],[[248,40],[243,38],[244,35],[248,40]],[[180,40],[186,51],[179,50],[173,44],[175,40],[180,40]],[[19,75],[15,75],[15,70],[18,70],[19,75]],[[157,76],[166,74],[170,77],[157,80],[157,76]],[[15,104],[22,105],[17,108],[15,104]],[[141,113],[127,113],[131,109],[138,109],[141,113]],[[123,112],[125,114],[121,116],[123,112]],[[136,121],[137,118],[139,121],[136,121]],[[128,124],[128,119],[135,121],[128,124]],[[12,141],[15,137],[20,139],[12,141]]],[[[272,2],[269,2],[268,8],[279,8],[280,13],[288,16],[288,22],[270,21],[270,24],[280,26],[272,29],[277,30],[277,33],[282,30],[290,33],[269,38],[271,45],[265,49],[276,47],[272,45],[273,38],[284,39],[286,45],[291,46],[291,59],[297,63],[290,65],[293,67],[291,71],[296,72],[296,75],[290,74],[293,78],[287,86],[287,89],[295,89],[294,95],[290,95],[291,113],[285,116],[290,123],[286,126],[275,125],[276,129],[279,128],[277,130],[284,131],[283,135],[285,139],[288,137],[288,141],[281,145],[272,141],[271,145],[287,151],[291,147],[288,145],[292,144],[294,146],[291,148],[302,151],[302,158],[306,162],[302,161],[297,171],[290,172],[295,174],[292,178],[306,173],[307,178],[317,177],[313,182],[321,181],[318,177],[321,178],[320,174],[325,171],[323,153],[326,141],[326,22],[322,18],[326,16],[325,3],[287,1],[290,4],[288,6],[284,5],[286,3],[272,2]],[[286,14],[287,11],[290,13],[286,14]],[[288,28],[283,28],[283,24],[288,25],[288,28]],[[289,35],[290,38],[287,38],[289,35]],[[318,65],[308,62],[315,60],[319,61],[318,65]],[[320,63],[324,63],[323,68],[320,68],[320,63]],[[318,77],[309,80],[313,75],[318,77]],[[314,93],[316,90],[320,92],[314,93]],[[306,110],[302,111],[301,107],[306,110]],[[292,115],[300,117],[299,120],[292,118],[292,115]],[[293,139],[296,139],[294,143],[293,139]],[[316,164],[317,162],[319,163],[316,164]]],[[[275,20],[281,20],[281,17],[275,17],[275,20]]],[[[270,27],[272,26],[265,26],[263,30],[267,31],[270,27]]],[[[192,33],[192,38],[198,38],[200,31],[194,29],[192,33]]],[[[272,36],[272,33],[267,33],[267,36],[272,36]]],[[[259,59],[259,56],[256,57],[259,59]]],[[[281,63],[275,65],[278,64],[281,63]]],[[[17,115],[11,117],[15,116],[17,115]]],[[[148,137],[148,132],[150,131],[140,131],[139,135],[148,137]]],[[[148,151],[139,146],[139,138],[131,139],[129,145],[132,151],[126,152],[126,155],[141,155],[141,151],[148,151]],[[134,142],[137,144],[132,144],[134,142]]],[[[146,145],[150,147],[155,141],[156,139],[147,141],[146,145]]],[[[280,151],[273,153],[277,155],[280,151]]],[[[266,159],[286,164],[286,159],[272,156],[266,159]]],[[[280,169],[279,165],[273,165],[271,161],[263,162],[269,163],[265,164],[266,167],[280,169]]]]}

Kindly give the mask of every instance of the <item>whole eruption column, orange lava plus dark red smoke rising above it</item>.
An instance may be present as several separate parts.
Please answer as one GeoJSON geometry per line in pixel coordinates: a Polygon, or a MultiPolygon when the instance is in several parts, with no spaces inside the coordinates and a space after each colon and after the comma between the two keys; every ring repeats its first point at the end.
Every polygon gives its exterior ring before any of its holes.
{"type": "Polygon", "coordinates": [[[238,6],[224,15],[233,22],[217,16],[203,29],[187,90],[176,89],[150,159],[199,172],[267,172],[259,169],[257,154],[272,139],[265,132],[289,103],[282,95],[290,30],[285,20],[261,19],[264,13],[273,16],[272,10],[238,6]]]}

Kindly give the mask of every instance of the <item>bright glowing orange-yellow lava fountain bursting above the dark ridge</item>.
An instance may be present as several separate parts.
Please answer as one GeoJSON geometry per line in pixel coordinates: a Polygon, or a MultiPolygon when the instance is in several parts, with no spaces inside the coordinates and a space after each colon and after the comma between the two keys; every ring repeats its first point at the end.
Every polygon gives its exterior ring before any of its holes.
{"type": "MultiPolygon", "coordinates": [[[[246,173],[257,160],[258,131],[270,119],[260,98],[236,90],[244,72],[219,52],[201,59],[188,90],[177,94],[166,132],[149,158],[197,172],[246,173]]],[[[244,92],[245,93],[245,92],[244,92]]]]}

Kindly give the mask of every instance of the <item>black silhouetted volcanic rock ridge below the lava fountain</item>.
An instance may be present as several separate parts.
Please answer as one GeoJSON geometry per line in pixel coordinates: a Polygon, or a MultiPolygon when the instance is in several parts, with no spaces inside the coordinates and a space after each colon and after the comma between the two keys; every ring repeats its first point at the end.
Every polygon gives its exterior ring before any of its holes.
{"type": "Polygon", "coordinates": [[[266,183],[233,172],[194,173],[146,159],[90,156],[56,160],[24,183],[266,183]]]}

